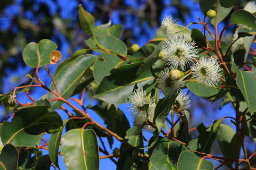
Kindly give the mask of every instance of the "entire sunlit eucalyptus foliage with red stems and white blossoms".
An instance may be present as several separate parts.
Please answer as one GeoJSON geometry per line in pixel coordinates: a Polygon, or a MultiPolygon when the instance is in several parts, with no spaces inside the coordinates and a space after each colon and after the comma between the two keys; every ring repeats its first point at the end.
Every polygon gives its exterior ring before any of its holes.
{"type": "Polygon", "coordinates": [[[27,66],[35,68],[33,74],[26,75],[30,82],[0,94],[5,107],[16,109],[10,121],[7,118],[0,124],[0,169],[56,169],[60,154],[67,170],[98,170],[103,158],[116,163],[117,170],[213,170],[213,159],[220,162],[216,169],[255,170],[251,160],[256,153],[247,152],[250,146],[245,136],[256,141],[256,58],[251,57],[256,55],[252,48],[256,3],[249,2],[231,15],[236,0],[199,3],[204,19],[179,26],[166,16],[155,38],[143,47],[127,47],[120,40],[121,25],[95,26],[94,17],[82,5],[78,7],[79,20],[89,35],[84,41],[88,49],[58,63],[62,54],[56,51],[55,42],[43,39],[28,43],[22,56],[27,66]],[[219,22],[229,16],[231,24],[218,34],[219,22]],[[190,30],[192,24],[201,25],[202,30],[190,30]],[[237,26],[236,32],[232,41],[224,42],[225,30],[231,25],[237,26]],[[48,65],[56,63],[52,74],[48,65]],[[38,76],[42,68],[52,82],[49,86],[38,76]],[[36,101],[29,94],[31,88],[47,93],[36,101]],[[236,116],[223,115],[209,127],[201,123],[189,129],[190,99],[185,89],[206,100],[221,99],[222,105],[231,103],[236,116]],[[93,93],[97,105],[83,104],[86,91],[93,93]],[[26,93],[31,102],[19,102],[16,93],[26,93]],[[72,98],[78,93],[80,99],[72,98]],[[64,103],[73,112],[66,110],[64,103]],[[122,103],[128,103],[132,127],[118,108],[122,103]],[[69,118],[62,120],[58,109],[69,118]],[[94,110],[106,127],[92,119],[88,109],[94,110]],[[223,119],[230,119],[236,129],[223,124],[223,119]],[[198,131],[195,138],[191,136],[193,130],[198,131]],[[144,142],[145,131],[151,138],[144,142]],[[45,134],[51,134],[49,141],[43,138],[45,134]],[[103,137],[110,147],[114,140],[120,141],[120,148],[112,154],[104,145],[99,147],[98,140],[103,137]],[[213,155],[215,140],[222,157],[213,155]],[[42,149],[49,155],[42,156],[42,149]],[[99,152],[106,156],[100,157],[99,152]]]}

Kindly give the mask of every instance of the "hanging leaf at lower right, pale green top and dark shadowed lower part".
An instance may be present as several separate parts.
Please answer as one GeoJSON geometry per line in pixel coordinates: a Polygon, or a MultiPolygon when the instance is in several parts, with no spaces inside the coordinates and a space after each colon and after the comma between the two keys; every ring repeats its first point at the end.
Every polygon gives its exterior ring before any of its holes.
{"type": "Polygon", "coordinates": [[[238,141],[239,137],[236,132],[228,125],[220,124],[217,133],[219,147],[223,156],[227,159],[238,159],[238,141]]]}

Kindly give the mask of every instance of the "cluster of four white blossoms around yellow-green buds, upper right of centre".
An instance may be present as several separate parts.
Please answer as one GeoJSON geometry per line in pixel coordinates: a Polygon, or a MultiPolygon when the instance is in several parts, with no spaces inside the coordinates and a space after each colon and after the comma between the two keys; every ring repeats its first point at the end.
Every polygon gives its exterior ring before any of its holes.
{"type": "Polygon", "coordinates": [[[165,28],[165,34],[167,34],[159,54],[159,58],[167,66],[158,78],[158,86],[163,93],[166,95],[179,91],[185,86],[184,79],[190,74],[192,74],[193,79],[205,85],[219,85],[221,76],[219,60],[213,57],[201,57],[198,60],[196,43],[190,41],[186,36],[179,34],[180,30],[174,30],[178,26],[176,20],[173,21],[171,16],[164,18],[162,27],[165,28]],[[167,26],[169,26],[169,30],[167,26]],[[180,79],[174,80],[170,75],[173,70],[188,70],[188,72],[183,77],[180,77],[180,79]]]}

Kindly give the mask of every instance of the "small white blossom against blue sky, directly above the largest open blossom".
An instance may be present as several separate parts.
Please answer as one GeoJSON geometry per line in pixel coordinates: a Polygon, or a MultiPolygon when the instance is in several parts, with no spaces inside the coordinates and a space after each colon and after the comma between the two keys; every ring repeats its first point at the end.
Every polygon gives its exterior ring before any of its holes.
{"type": "Polygon", "coordinates": [[[172,16],[165,16],[161,27],[165,29],[166,36],[172,36],[180,31],[180,28],[177,26],[177,20],[172,18],[172,16]]]}

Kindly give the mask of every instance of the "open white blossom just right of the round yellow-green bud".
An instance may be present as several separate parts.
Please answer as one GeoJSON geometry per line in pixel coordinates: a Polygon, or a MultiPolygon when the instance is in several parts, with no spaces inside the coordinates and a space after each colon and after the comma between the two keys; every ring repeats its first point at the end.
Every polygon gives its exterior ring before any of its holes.
{"type": "Polygon", "coordinates": [[[191,67],[192,78],[209,86],[217,86],[221,77],[221,68],[218,59],[201,57],[191,67]]]}

